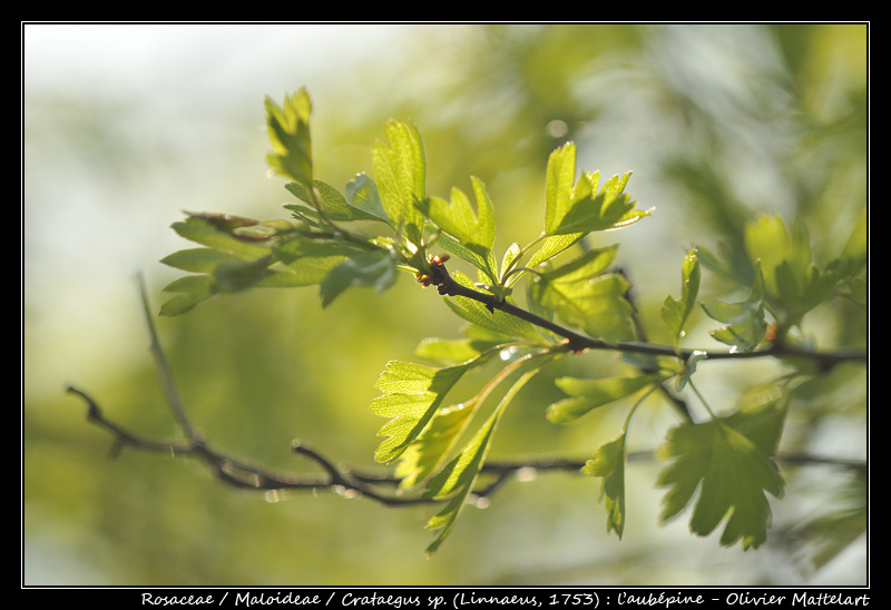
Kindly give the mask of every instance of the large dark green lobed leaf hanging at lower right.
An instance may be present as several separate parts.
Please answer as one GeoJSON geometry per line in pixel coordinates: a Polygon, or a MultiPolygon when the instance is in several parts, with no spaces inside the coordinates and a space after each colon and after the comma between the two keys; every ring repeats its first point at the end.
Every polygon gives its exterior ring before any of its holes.
{"type": "Polygon", "coordinates": [[[781,498],[784,482],[772,452],[744,429],[738,419],[714,419],[669,432],[659,451],[674,459],[658,478],[658,485],[668,488],[663,521],[681,513],[698,488],[689,522],[694,533],[708,535],[726,518],[723,545],[742,540],[743,549],[754,549],[766,540],[771,508],[765,493],[781,498]]]}

